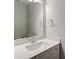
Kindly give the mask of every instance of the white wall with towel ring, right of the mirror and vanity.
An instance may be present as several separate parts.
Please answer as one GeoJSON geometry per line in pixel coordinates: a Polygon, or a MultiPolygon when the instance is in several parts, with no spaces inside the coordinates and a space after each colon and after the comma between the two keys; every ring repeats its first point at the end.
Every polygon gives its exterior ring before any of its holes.
{"type": "MultiPolygon", "coordinates": [[[[61,38],[61,59],[65,53],[65,1],[46,0],[46,34],[47,38],[56,36],[61,38]],[[49,19],[52,19],[55,26],[51,27],[49,19]]],[[[57,40],[57,39],[56,39],[57,40]]]]}

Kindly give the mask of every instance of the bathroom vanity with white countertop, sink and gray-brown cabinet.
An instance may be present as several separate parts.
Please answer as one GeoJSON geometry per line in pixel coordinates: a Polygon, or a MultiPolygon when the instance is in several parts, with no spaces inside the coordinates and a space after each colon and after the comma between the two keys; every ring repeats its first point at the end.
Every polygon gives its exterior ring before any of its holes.
{"type": "Polygon", "coordinates": [[[15,59],[59,59],[60,42],[51,39],[38,40],[35,43],[16,45],[15,59]]]}

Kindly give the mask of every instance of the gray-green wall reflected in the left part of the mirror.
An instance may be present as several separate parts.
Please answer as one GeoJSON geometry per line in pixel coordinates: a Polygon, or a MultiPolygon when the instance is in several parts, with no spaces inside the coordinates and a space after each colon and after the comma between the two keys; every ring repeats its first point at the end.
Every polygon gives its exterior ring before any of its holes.
{"type": "Polygon", "coordinates": [[[15,38],[25,37],[27,33],[27,7],[15,1],[14,35],[15,38]]]}

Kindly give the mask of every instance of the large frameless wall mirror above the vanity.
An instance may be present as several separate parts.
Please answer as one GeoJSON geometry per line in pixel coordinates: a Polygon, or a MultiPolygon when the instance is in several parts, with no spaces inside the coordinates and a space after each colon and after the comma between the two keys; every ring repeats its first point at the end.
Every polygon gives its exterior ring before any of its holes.
{"type": "Polygon", "coordinates": [[[42,0],[15,0],[14,39],[43,36],[42,0]]]}

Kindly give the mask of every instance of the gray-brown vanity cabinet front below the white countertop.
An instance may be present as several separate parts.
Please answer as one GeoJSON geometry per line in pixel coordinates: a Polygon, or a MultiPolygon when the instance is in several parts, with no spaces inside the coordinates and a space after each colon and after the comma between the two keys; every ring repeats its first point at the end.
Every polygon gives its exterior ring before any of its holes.
{"type": "Polygon", "coordinates": [[[59,45],[56,45],[31,59],[59,59],[59,45]]]}

